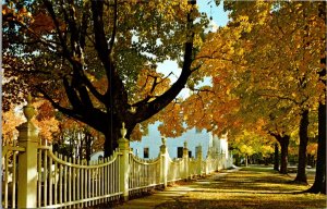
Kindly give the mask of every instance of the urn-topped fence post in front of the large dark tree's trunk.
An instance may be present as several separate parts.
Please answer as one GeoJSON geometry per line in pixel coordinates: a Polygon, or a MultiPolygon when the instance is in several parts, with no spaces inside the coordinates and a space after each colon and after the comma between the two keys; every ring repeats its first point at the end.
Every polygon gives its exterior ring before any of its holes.
{"type": "Polygon", "coordinates": [[[120,156],[120,170],[119,170],[119,181],[120,181],[120,190],[122,194],[122,199],[124,201],[129,200],[129,174],[130,174],[130,142],[125,138],[128,133],[125,128],[125,123],[122,123],[122,128],[120,130],[121,138],[118,139],[120,156]]]}

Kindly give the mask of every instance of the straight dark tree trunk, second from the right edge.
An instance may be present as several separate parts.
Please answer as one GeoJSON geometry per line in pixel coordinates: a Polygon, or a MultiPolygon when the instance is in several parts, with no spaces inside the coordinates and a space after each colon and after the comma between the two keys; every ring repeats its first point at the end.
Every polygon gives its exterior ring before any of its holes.
{"type": "Polygon", "coordinates": [[[299,147],[299,162],[298,173],[294,182],[305,183],[306,180],[306,146],[307,146],[307,126],[308,126],[308,110],[304,110],[301,114],[300,121],[300,147],[299,147]]]}

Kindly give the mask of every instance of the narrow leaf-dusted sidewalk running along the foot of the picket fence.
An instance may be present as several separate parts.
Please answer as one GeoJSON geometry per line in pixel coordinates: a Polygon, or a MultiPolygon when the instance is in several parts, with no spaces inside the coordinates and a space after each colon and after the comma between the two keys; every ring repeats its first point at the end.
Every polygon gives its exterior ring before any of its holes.
{"type": "Polygon", "coordinates": [[[156,192],[153,195],[137,198],[137,199],[132,199],[129,200],[120,206],[113,207],[114,209],[149,209],[149,208],[155,208],[156,206],[167,202],[167,201],[175,201],[178,200],[181,196],[186,195],[191,190],[196,190],[201,188],[202,184],[209,184],[210,181],[217,180],[219,177],[222,177],[227,175],[230,172],[238,171],[239,169],[232,169],[232,170],[223,170],[220,172],[215,172],[204,179],[198,179],[194,182],[186,183],[185,185],[178,185],[178,186],[172,186],[168,187],[167,189],[160,192],[156,192]]]}

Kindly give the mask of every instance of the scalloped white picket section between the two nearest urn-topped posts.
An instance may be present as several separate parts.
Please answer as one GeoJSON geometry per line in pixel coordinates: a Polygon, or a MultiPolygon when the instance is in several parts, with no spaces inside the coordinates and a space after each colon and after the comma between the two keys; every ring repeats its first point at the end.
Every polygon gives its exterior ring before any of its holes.
{"type": "Polygon", "coordinates": [[[119,198],[119,152],[104,160],[81,161],[38,148],[37,208],[87,207],[119,198]]]}

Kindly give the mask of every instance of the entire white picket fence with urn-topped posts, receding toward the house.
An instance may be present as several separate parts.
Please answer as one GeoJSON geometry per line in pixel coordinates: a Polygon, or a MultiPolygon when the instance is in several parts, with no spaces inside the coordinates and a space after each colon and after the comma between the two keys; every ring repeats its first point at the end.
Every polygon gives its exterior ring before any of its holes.
{"type": "Polygon", "coordinates": [[[222,155],[208,152],[202,159],[189,158],[186,143],[183,157],[170,159],[162,138],[156,159],[134,156],[124,138],[123,127],[119,148],[110,158],[89,161],[66,158],[41,145],[37,128],[31,122],[33,107],[24,107],[27,122],[17,127],[19,146],[2,146],[2,207],[3,208],[83,208],[112,200],[128,200],[129,196],[156,186],[208,174],[227,167],[222,155]]]}

